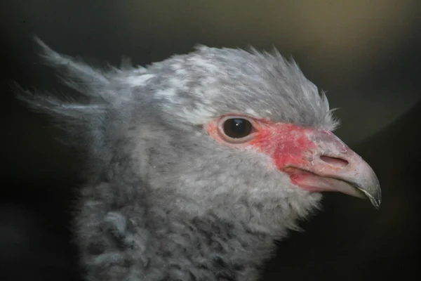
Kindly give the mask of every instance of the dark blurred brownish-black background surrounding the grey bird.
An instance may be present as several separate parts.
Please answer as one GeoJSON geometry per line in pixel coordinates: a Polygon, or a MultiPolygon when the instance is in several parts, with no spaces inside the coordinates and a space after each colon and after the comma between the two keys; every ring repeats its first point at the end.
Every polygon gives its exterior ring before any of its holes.
{"type": "Polygon", "coordinates": [[[79,280],[68,228],[79,183],[71,149],[22,107],[13,82],[58,90],[32,35],[56,51],[136,65],[210,46],[273,46],[327,91],[336,132],[373,166],[383,204],[327,195],[279,244],[263,280],[417,280],[421,171],[421,2],[1,1],[0,280],[79,280]]]}

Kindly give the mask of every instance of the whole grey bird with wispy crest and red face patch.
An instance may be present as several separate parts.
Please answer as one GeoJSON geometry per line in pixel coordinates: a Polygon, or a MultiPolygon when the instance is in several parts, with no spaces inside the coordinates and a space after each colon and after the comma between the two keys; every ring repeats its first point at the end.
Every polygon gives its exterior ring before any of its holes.
{"type": "Polygon", "coordinates": [[[380,207],[326,93],[276,48],[94,67],[34,40],[72,93],[17,96],[83,157],[72,231],[85,280],[258,280],[324,192],[380,207]]]}

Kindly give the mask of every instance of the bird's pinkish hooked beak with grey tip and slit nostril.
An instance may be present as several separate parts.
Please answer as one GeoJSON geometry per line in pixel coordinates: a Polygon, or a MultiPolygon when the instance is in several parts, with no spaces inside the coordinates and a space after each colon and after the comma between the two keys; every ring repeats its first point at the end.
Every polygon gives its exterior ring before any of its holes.
{"type": "Polygon", "coordinates": [[[302,133],[301,138],[308,145],[295,146],[290,161],[285,159],[279,169],[289,174],[295,185],[310,191],[335,191],[368,198],[376,209],[380,207],[380,183],[359,155],[329,131],[303,128],[293,131],[302,133]]]}

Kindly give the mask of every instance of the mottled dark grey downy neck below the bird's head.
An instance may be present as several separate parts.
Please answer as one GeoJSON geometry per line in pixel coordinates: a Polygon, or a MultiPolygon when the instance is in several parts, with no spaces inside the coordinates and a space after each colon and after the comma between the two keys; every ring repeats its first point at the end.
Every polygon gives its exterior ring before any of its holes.
{"type": "Polygon", "coordinates": [[[199,203],[136,186],[119,181],[81,189],[74,227],[88,279],[253,281],[285,234],[285,223],[258,223],[265,211],[259,205],[201,211],[199,203]],[[189,204],[188,211],[180,207],[189,204]]]}

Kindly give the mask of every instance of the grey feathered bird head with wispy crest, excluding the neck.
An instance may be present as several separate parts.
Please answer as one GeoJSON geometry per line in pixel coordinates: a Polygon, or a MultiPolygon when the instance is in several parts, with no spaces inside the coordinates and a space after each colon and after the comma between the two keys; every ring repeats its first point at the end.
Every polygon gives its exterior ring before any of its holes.
{"type": "Polygon", "coordinates": [[[213,212],[268,232],[293,227],[321,192],[380,206],[373,170],[333,134],[338,122],[325,94],[277,51],[198,46],[105,71],[39,44],[82,98],[26,100],[79,128],[92,178],[129,175],[162,209],[213,212]]]}

